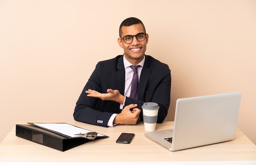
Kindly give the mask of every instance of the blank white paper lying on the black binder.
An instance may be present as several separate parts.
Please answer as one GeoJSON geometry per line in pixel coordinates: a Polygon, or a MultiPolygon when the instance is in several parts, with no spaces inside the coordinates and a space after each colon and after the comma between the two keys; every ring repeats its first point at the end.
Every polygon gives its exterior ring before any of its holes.
{"type": "MultiPolygon", "coordinates": [[[[68,123],[34,123],[34,125],[37,125],[39,127],[44,127],[45,129],[50,129],[55,132],[59,132],[61,134],[70,136],[72,138],[79,137],[79,135],[75,135],[75,134],[79,134],[79,133],[85,134],[85,133],[91,132],[87,129],[76,127],[68,123]]],[[[104,135],[97,134],[97,136],[104,136],[104,135]]]]}

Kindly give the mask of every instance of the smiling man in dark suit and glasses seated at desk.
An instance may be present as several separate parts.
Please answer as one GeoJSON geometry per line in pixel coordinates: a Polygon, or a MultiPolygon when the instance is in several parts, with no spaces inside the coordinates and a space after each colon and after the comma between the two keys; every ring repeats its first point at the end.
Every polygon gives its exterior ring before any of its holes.
{"type": "Polygon", "coordinates": [[[124,54],[98,62],[76,103],[74,119],[104,127],[136,124],[139,118],[143,121],[143,103],[154,102],[159,105],[157,123],[162,123],[170,105],[171,71],[145,55],[148,34],[141,20],[124,20],[119,36],[124,54]],[[136,71],[131,65],[137,66],[139,79],[135,93],[131,84],[136,71]]]}

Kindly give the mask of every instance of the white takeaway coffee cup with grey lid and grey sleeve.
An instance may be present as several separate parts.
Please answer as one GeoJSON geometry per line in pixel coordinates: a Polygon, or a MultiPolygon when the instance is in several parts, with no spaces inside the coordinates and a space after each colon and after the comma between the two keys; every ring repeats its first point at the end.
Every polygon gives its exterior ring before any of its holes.
{"type": "Polygon", "coordinates": [[[145,131],[153,132],[157,124],[159,106],[157,103],[148,102],[142,105],[145,131]]]}

